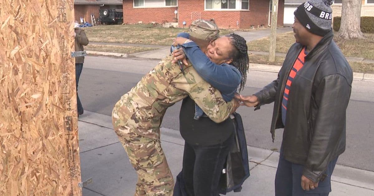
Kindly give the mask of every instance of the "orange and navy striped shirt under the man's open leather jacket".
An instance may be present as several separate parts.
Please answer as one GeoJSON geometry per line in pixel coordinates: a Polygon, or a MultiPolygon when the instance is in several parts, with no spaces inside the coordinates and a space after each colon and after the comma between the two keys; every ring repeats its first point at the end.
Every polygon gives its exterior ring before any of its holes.
{"type": "Polygon", "coordinates": [[[299,53],[299,56],[295,60],[294,65],[292,66],[291,71],[289,72],[288,78],[287,78],[287,83],[286,87],[284,89],[283,93],[283,100],[282,100],[282,122],[283,125],[286,124],[286,112],[287,112],[287,102],[288,102],[288,95],[289,95],[289,90],[291,89],[291,84],[292,81],[294,80],[296,74],[298,71],[300,71],[301,68],[304,66],[304,58],[307,55],[305,52],[305,47],[301,52],[299,53]]]}

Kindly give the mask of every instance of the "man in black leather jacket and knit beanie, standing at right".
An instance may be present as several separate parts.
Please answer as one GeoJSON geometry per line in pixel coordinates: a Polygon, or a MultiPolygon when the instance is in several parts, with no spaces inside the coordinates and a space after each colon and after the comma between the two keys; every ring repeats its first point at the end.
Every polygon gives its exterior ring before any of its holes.
{"type": "Polygon", "coordinates": [[[346,109],[352,69],[332,40],[333,0],[309,0],[295,11],[296,43],[278,78],[252,96],[236,94],[241,105],[275,102],[271,125],[284,128],[276,196],[329,195],[331,174],[346,146],[346,109]]]}

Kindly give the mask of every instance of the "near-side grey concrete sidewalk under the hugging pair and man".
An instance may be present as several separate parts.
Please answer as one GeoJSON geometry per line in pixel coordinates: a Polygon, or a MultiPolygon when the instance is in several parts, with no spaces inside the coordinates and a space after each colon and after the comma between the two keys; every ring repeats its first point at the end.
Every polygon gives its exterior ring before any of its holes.
{"type": "MultiPolygon", "coordinates": [[[[79,147],[84,196],[134,195],[137,175],[112,129],[111,116],[85,111],[79,117],[79,147]]],[[[162,148],[174,177],[181,170],[183,145],[179,131],[161,129],[162,148]]],[[[250,145],[250,144],[249,144],[250,145]]],[[[242,192],[230,196],[274,195],[278,152],[248,146],[251,176],[242,192]]],[[[332,177],[332,196],[374,195],[374,172],[337,165],[332,177]]]]}

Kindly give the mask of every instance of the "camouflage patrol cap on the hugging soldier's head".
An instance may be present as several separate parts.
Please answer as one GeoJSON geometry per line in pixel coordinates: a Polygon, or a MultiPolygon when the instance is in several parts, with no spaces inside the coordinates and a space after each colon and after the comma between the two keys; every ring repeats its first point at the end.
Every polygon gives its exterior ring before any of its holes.
{"type": "Polygon", "coordinates": [[[196,20],[191,23],[189,33],[202,40],[215,40],[219,37],[220,29],[212,20],[196,20]]]}

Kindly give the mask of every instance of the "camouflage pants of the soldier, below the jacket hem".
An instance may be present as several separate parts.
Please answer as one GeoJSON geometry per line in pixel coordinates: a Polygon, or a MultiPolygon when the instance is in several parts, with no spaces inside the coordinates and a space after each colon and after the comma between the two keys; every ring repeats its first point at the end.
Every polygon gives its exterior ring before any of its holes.
{"type": "Polygon", "coordinates": [[[172,196],[174,180],[160,141],[116,133],[138,174],[134,196],[172,196]]]}

